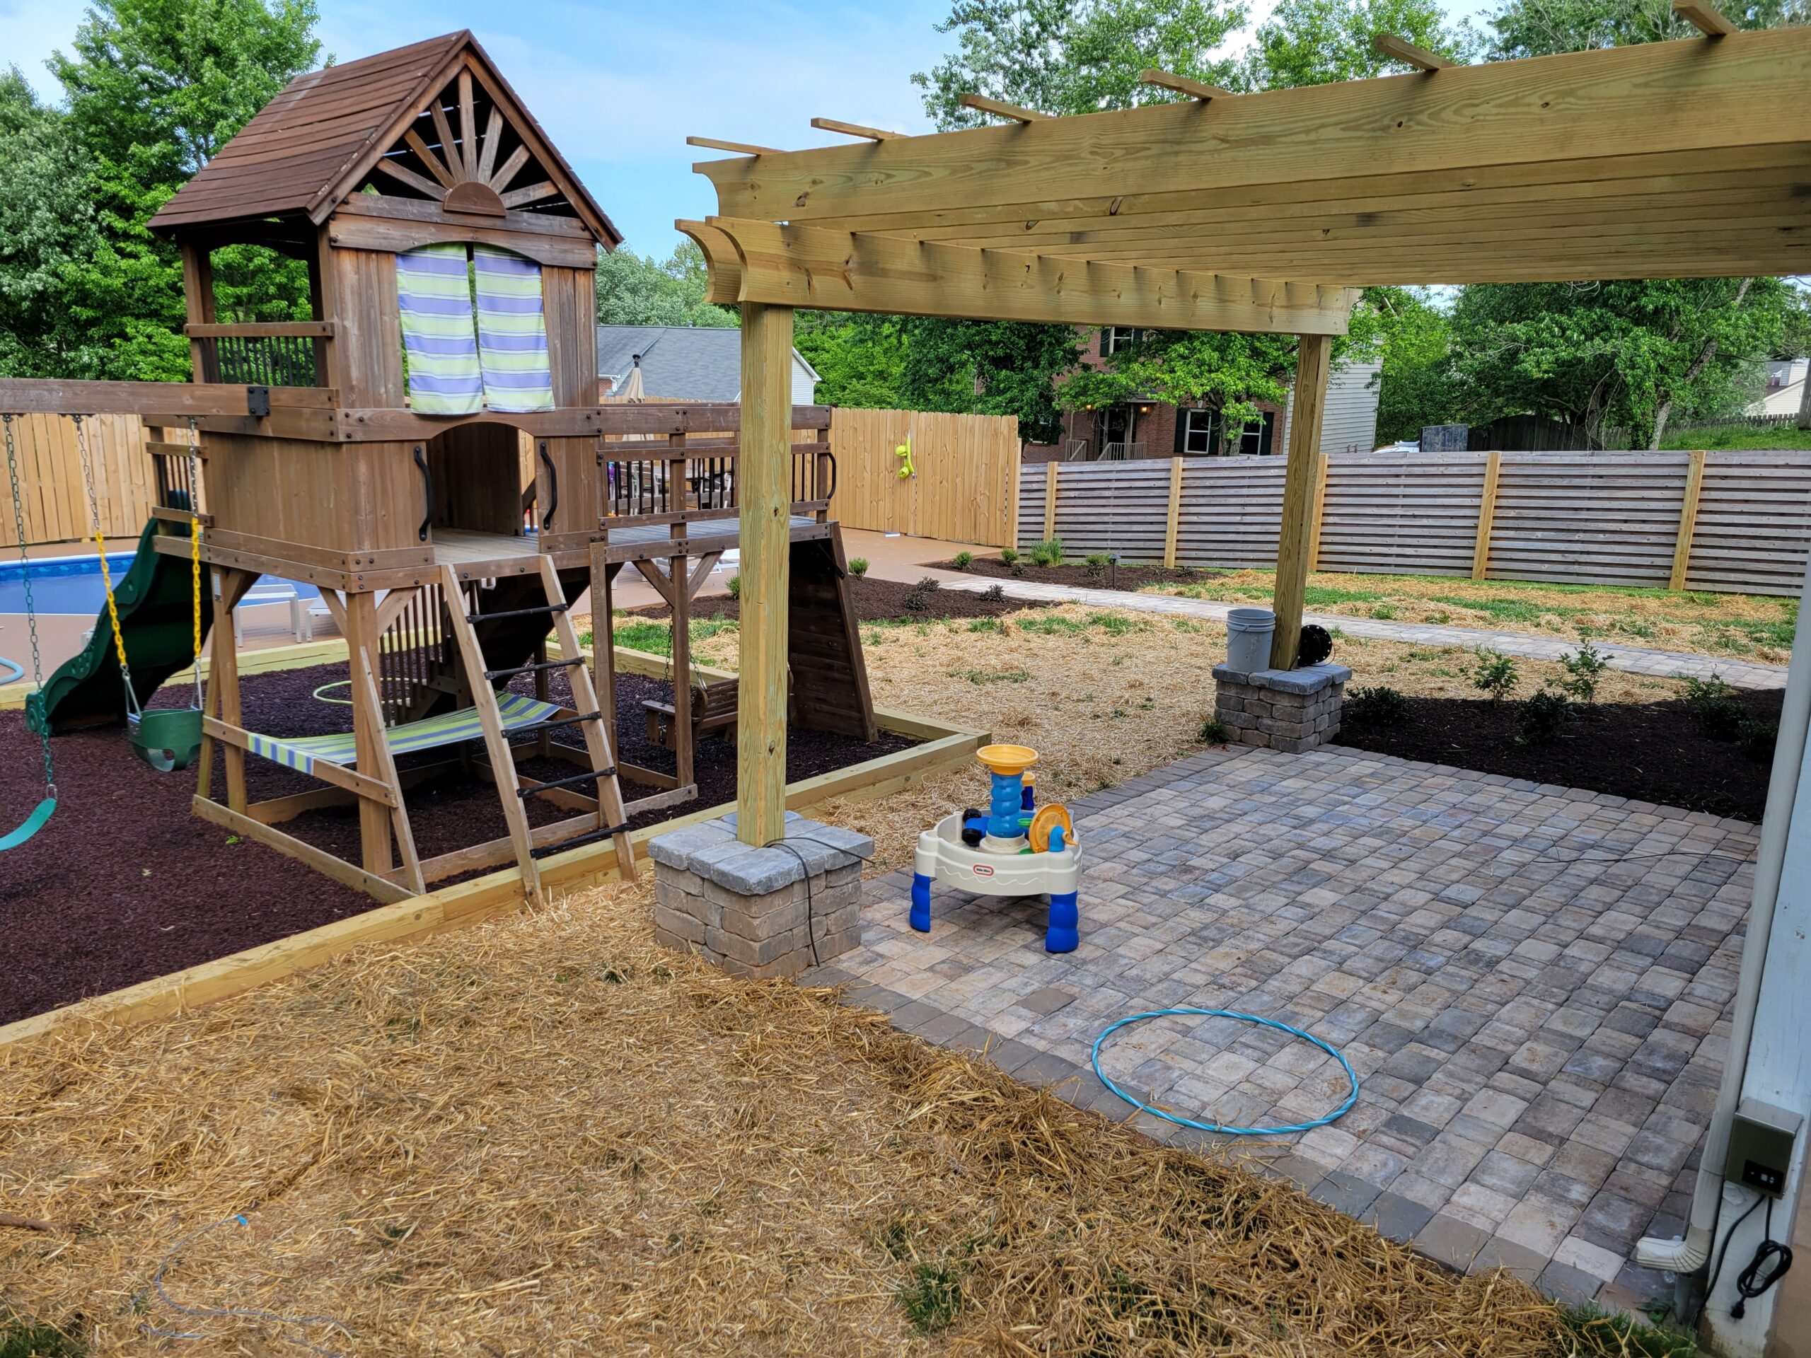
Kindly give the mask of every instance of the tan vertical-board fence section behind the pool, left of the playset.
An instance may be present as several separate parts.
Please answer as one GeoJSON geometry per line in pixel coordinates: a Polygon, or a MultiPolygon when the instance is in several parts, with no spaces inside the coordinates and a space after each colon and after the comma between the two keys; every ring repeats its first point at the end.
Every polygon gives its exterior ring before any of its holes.
{"type": "MultiPolygon", "coordinates": [[[[94,502],[101,532],[138,538],[156,498],[150,458],[145,454],[145,422],[136,415],[87,415],[89,462],[94,467],[94,502]]],[[[18,489],[24,498],[25,543],[76,543],[92,540],[87,491],[76,424],[65,415],[14,415],[13,449],[18,458],[18,489]]],[[[0,489],[0,500],[5,500],[0,489]]],[[[0,545],[18,547],[11,503],[0,502],[0,545]]]]}

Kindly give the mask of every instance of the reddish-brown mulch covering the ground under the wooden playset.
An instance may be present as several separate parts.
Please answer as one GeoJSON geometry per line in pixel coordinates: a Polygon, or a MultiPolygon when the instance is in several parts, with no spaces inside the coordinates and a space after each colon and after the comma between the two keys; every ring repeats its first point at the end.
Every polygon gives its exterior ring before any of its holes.
{"type": "MultiPolygon", "coordinates": [[[[246,675],[244,724],[273,735],[351,730],[351,708],[313,699],[315,688],[344,675],[344,665],[246,675]]],[[[554,675],[558,701],[567,695],[563,681],[563,675],[554,675]]],[[[527,677],[516,683],[529,688],[527,677]]],[[[654,679],[618,675],[619,759],[674,771],[674,755],[647,744],[641,717],[641,699],[665,699],[668,692],[654,679]]],[[[187,688],[165,690],[154,704],[181,706],[188,701],[187,688]]],[[[554,739],[583,744],[574,730],[558,732],[554,739]]],[[[886,733],[878,742],[866,744],[846,735],[793,730],[786,742],[786,777],[797,780],[829,773],[911,744],[886,733]]],[[[24,713],[0,712],[0,750],[7,751],[0,759],[0,808],[18,820],[43,795],[38,741],[25,732],[24,713]]],[[[51,750],[60,793],[56,815],[36,838],[5,855],[0,878],[0,936],[7,940],[0,1023],[212,961],[377,905],[369,896],[263,844],[230,844],[232,837],[223,827],[190,813],[194,770],[154,773],[132,755],[121,728],[62,735],[51,750]]],[[[449,753],[426,751],[397,762],[411,768],[449,753]]],[[[572,764],[556,759],[529,760],[522,768],[540,779],[574,771],[572,764]]],[[[733,802],[733,742],[717,737],[701,741],[695,779],[695,802],[654,811],[630,824],[639,827],[733,802]]],[[[246,759],[246,784],[254,802],[322,786],[263,759],[246,759]]],[[[216,795],[225,786],[223,760],[217,759],[216,795]]],[[[628,799],[652,791],[623,784],[628,799]]],[[[438,779],[411,788],[407,800],[422,858],[509,833],[496,789],[476,779],[438,779]]],[[[527,806],[534,824],[576,815],[541,799],[529,799],[527,806]]],[[[283,829],[342,858],[359,858],[355,808],[310,811],[283,829]]]]}

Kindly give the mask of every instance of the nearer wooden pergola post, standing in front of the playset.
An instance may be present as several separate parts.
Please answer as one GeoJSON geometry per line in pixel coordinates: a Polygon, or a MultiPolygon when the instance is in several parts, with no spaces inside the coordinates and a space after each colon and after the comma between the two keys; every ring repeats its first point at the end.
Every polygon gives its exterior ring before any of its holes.
{"type": "Polygon", "coordinates": [[[791,319],[790,306],[743,302],[743,433],[735,465],[743,550],[735,833],[743,844],[757,846],[786,833],[791,319]]]}

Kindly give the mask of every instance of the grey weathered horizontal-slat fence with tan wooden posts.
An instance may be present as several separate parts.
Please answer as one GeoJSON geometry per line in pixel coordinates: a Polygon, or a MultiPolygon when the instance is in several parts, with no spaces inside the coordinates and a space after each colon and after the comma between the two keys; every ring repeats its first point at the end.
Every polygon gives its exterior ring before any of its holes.
{"type": "MultiPolygon", "coordinates": [[[[1282,458],[1027,465],[1018,545],[1271,567],[1282,474],[1282,458]]],[[[1315,485],[1315,570],[1789,596],[1807,554],[1811,451],[1335,453],[1315,485]]]]}

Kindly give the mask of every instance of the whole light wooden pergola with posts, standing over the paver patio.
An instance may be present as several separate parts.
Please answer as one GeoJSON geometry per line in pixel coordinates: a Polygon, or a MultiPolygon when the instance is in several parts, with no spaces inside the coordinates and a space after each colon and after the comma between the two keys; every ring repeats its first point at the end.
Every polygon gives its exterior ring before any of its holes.
{"type": "Polygon", "coordinates": [[[1298,337],[1271,665],[1295,663],[1333,337],[1365,284],[1811,273],[1811,29],[1047,118],[697,167],[710,301],[743,308],[739,827],[782,831],[793,308],[1298,337]]]}

